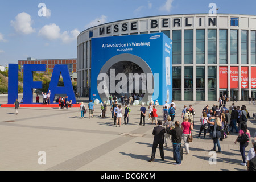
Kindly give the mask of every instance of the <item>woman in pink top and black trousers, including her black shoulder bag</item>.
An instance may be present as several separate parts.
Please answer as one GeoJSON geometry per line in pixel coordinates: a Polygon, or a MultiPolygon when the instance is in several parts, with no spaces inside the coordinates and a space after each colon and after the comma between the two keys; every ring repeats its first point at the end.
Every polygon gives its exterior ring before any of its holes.
{"type": "Polygon", "coordinates": [[[234,142],[237,144],[237,142],[240,142],[239,147],[240,147],[240,153],[242,155],[243,162],[241,163],[242,166],[246,166],[246,158],[245,158],[245,148],[249,144],[250,140],[250,131],[247,129],[246,123],[241,124],[241,129],[239,130],[238,137],[236,141],[234,142]]]}

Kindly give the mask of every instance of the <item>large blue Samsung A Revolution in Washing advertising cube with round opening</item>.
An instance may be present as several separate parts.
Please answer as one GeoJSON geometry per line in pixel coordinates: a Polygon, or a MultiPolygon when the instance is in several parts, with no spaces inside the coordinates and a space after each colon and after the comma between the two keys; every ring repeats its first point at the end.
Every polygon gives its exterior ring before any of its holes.
{"type": "Polygon", "coordinates": [[[163,33],[92,38],[90,99],[172,100],[172,40],[163,33]]]}

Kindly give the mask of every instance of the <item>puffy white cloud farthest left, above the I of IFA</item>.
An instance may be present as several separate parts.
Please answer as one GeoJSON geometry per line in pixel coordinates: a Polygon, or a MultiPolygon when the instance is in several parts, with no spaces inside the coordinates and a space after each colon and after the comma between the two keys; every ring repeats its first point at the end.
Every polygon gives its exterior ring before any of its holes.
{"type": "Polygon", "coordinates": [[[14,27],[16,32],[22,34],[31,34],[35,32],[35,29],[31,27],[31,24],[31,16],[25,12],[19,13],[14,21],[11,20],[11,26],[14,27]]]}

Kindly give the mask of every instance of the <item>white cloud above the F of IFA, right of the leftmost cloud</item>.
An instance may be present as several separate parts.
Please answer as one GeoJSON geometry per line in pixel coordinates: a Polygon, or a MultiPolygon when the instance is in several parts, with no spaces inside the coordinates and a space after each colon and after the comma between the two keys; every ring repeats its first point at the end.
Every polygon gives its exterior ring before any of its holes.
{"type": "Polygon", "coordinates": [[[56,40],[60,38],[60,27],[55,23],[47,24],[43,26],[38,32],[39,36],[46,38],[48,40],[56,40]]]}

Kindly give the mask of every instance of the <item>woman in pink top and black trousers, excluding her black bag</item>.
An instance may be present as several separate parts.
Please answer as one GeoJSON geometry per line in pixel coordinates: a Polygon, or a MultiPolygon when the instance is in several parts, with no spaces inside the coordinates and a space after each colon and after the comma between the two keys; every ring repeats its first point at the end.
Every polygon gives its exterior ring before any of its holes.
{"type": "MultiPolygon", "coordinates": [[[[249,140],[250,140],[250,137],[251,137],[250,131],[247,129],[246,123],[242,123],[241,124],[241,129],[239,130],[237,139],[234,143],[237,144],[238,137],[240,137],[242,134],[245,134],[245,133],[248,135],[249,140]]],[[[243,162],[241,163],[242,166],[246,166],[245,148],[248,146],[248,144],[249,144],[249,141],[239,143],[240,153],[242,155],[242,160],[243,160],[243,162]]]]}

